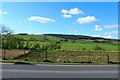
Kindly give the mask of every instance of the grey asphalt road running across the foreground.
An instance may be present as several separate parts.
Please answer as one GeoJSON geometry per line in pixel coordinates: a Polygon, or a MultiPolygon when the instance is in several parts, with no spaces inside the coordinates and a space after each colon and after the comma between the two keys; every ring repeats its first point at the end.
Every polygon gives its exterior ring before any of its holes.
{"type": "Polygon", "coordinates": [[[118,78],[117,65],[2,64],[3,78],[118,78]]]}

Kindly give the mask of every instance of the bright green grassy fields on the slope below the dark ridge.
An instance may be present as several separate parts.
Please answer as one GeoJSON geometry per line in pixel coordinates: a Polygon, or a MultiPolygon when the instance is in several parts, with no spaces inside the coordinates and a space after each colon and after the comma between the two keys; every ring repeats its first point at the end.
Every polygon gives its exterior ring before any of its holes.
{"type": "MultiPolygon", "coordinates": [[[[95,46],[100,46],[106,51],[118,51],[118,42],[97,43],[95,40],[79,39],[64,41],[64,38],[44,35],[14,35],[15,37],[22,38],[30,41],[33,45],[39,43],[40,46],[47,45],[49,43],[60,42],[61,50],[94,50],[95,46]]],[[[26,41],[25,41],[26,42],[26,41]]]]}

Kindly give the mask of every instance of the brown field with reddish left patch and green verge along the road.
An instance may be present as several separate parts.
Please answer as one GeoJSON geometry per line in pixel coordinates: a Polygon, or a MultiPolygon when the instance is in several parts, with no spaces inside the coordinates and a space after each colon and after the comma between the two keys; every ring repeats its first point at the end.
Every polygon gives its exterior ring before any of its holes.
{"type": "Polygon", "coordinates": [[[50,62],[43,62],[45,60],[45,52],[44,51],[32,51],[28,54],[22,54],[20,50],[8,50],[6,53],[6,59],[2,60],[3,62],[32,62],[36,64],[48,63],[48,64],[108,64],[107,63],[107,54],[109,54],[109,61],[118,62],[118,52],[112,51],[49,51],[48,52],[48,60],[50,62]],[[16,55],[15,55],[16,54],[16,55]],[[14,58],[16,59],[14,59],[14,58]],[[69,62],[69,63],[68,63],[69,62]],[[89,63],[88,63],[89,62],[89,63]]]}

